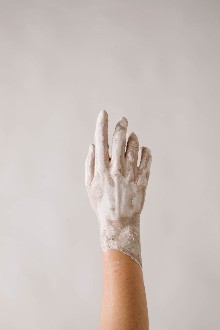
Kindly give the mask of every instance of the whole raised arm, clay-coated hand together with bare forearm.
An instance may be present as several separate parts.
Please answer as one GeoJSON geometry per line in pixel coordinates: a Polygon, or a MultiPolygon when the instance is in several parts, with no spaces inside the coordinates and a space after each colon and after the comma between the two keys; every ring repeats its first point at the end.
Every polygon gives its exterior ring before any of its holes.
{"type": "Polygon", "coordinates": [[[95,145],[85,162],[85,185],[99,220],[103,253],[103,298],[99,330],[147,330],[148,313],[142,275],[140,215],[150,174],[151,152],[139,148],[121,117],[108,143],[108,114],[96,122],[95,145]],[[125,150],[126,148],[126,150],[125,150]],[[138,153],[141,161],[138,166],[138,153]]]}

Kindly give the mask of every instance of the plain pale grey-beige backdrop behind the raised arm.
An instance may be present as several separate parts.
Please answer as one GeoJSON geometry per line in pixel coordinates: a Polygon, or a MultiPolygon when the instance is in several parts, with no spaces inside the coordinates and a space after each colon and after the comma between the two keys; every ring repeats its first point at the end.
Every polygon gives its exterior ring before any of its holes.
{"type": "Polygon", "coordinates": [[[98,328],[98,113],[152,152],[150,330],[219,329],[219,1],[0,0],[0,328],[98,328]]]}

